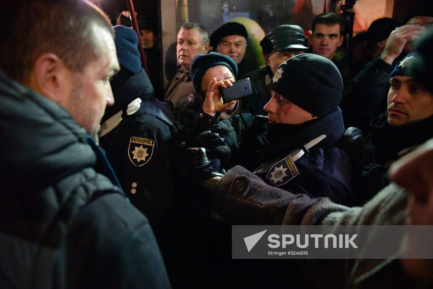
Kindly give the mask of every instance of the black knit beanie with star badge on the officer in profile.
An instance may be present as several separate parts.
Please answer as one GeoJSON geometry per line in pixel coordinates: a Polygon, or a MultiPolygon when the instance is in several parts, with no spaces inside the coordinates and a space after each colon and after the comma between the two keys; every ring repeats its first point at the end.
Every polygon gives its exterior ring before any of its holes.
{"type": "Polygon", "coordinates": [[[338,107],[343,97],[343,80],[332,61],[304,53],[281,63],[270,89],[321,117],[338,107]]]}

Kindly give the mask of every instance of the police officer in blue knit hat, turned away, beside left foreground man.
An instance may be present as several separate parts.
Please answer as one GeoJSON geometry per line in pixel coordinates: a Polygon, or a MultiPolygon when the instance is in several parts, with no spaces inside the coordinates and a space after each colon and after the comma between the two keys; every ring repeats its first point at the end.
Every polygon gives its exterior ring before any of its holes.
{"type": "Polygon", "coordinates": [[[100,142],[131,203],[156,226],[173,200],[174,117],[153,96],[135,31],[120,25],[114,31],[120,72],[110,81],[115,104],[103,116],[100,142]]]}

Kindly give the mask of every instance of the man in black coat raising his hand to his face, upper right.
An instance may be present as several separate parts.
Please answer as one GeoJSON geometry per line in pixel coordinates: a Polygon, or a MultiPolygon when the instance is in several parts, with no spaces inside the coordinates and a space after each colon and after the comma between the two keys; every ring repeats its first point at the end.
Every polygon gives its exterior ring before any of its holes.
{"type": "Polygon", "coordinates": [[[412,7],[404,16],[403,26],[397,27],[388,37],[380,55],[345,86],[340,108],[344,125],[357,127],[368,134],[372,118],[384,113],[389,76],[395,65],[409,53],[414,52],[410,43],[417,39],[424,26],[433,21],[433,5],[424,0],[412,7]]]}

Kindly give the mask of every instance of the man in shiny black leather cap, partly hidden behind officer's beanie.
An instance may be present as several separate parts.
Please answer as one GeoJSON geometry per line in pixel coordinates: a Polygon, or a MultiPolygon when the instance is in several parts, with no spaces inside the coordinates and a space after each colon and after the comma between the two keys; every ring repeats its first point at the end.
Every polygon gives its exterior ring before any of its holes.
{"type": "Polygon", "coordinates": [[[266,66],[249,72],[242,78],[249,77],[253,95],[262,99],[264,106],[272,97],[269,89],[272,75],[281,63],[307,51],[308,38],[300,26],[284,24],[266,34],[260,41],[260,46],[266,66]]]}

